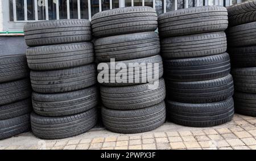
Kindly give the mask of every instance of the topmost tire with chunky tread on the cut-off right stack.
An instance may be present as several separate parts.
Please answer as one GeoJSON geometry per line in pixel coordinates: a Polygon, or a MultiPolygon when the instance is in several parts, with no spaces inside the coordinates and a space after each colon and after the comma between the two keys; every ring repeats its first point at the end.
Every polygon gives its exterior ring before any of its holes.
{"type": "Polygon", "coordinates": [[[247,1],[227,7],[229,26],[256,21],[256,1],[247,1]]]}

